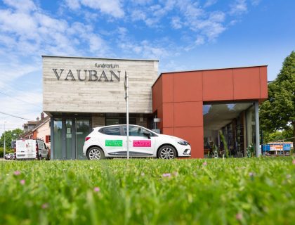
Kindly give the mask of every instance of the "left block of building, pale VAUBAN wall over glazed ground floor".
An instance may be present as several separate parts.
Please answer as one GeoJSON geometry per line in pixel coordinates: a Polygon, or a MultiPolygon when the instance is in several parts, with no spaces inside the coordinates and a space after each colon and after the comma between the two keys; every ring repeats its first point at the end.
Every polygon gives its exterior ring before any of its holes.
{"type": "Polygon", "coordinates": [[[51,116],[52,159],[84,159],[82,147],[92,127],[126,123],[125,74],[129,121],[152,128],[158,60],[43,56],[43,110],[51,116]]]}

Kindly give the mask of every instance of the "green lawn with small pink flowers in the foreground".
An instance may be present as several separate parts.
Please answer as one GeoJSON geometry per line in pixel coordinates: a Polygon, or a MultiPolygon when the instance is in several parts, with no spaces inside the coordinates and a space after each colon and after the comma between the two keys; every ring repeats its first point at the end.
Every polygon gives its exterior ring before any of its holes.
{"type": "Polygon", "coordinates": [[[0,224],[295,221],[295,165],[287,157],[1,161],[0,166],[0,224]]]}

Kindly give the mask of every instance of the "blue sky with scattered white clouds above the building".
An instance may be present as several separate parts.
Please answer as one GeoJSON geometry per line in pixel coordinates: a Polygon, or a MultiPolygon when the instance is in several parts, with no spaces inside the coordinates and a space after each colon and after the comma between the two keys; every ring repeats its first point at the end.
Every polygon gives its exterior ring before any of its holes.
{"type": "Polygon", "coordinates": [[[0,135],[40,117],[42,55],[157,59],[159,73],[268,65],[273,80],[294,15],[293,0],[0,0],[0,135]]]}

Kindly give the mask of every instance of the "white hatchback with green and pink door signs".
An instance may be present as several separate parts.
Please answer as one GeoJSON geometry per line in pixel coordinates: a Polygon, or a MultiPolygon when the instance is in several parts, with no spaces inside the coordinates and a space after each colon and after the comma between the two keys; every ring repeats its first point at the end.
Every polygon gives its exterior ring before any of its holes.
{"type": "MultiPolygon", "coordinates": [[[[89,160],[126,158],[126,125],[94,128],[85,138],[83,154],[89,160]]],[[[190,157],[190,144],[176,136],[157,134],[144,127],[129,125],[129,155],[132,158],[153,157],[167,160],[190,157]]]]}

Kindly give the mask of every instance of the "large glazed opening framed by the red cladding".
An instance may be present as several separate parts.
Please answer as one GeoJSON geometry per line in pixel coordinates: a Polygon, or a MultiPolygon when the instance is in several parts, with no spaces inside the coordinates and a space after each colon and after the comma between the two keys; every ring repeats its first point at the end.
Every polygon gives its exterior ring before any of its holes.
{"type": "Polygon", "coordinates": [[[256,151],[256,120],[253,102],[203,105],[204,157],[244,157],[247,146],[256,151]]]}

